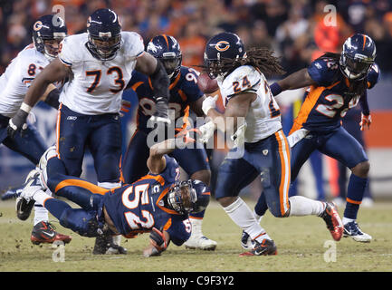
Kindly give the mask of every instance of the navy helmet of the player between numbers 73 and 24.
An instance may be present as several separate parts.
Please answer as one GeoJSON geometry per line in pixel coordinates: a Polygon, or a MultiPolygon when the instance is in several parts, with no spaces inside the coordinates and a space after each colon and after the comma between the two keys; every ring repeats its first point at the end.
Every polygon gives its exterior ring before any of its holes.
{"type": "Polygon", "coordinates": [[[170,80],[177,77],[181,69],[182,53],[176,38],[166,34],[155,36],[148,43],[147,52],[163,64],[170,80]]]}

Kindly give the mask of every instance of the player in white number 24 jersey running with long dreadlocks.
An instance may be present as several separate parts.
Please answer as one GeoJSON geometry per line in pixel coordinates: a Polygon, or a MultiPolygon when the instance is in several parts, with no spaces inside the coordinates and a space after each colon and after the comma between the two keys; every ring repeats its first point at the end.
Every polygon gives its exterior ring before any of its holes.
{"type": "Polygon", "coordinates": [[[212,121],[199,129],[203,133],[202,140],[207,140],[215,124],[223,118],[225,131],[229,131],[229,118],[234,123],[237,148],[229,151],[219,168],[215,198],[234,223],[253,240],[252,249],[240,256],[277,254],[272,238],[238,196],[240,190],[258,176],[261,176],[267,204],[274,217],[319,215],[327,223],[332,237],[339,240],[341,221],[332,204],[288,196],[290,147],[282,132],[279,106],[263,74],[282,73],[277,58],[264,48],[245,52],[244,43],[236,34],[221,33],[206,43],[205,61],[206,72],[217,79],[225,112],[215,110],[216,97],[207,97],[203,111],[212,121]],[[238,152],[240,146],[244,147],[243,154],[232,154],[238,152]]]}

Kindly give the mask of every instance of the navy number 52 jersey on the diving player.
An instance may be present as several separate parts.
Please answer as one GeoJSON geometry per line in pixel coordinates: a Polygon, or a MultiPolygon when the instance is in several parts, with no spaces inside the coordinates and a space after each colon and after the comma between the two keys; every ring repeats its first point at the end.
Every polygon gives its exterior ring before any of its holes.
{"type": "Polygon", "coordinates": [[[179,167],[173,158],[166,158],[166,168],[160,174],[148,174],[129,186],[114,189],[104,198],[114,226],[124,237],[134,237],[152,227],[166,230],[171,241],[182,245],[191,233],[187,215],[167,207],[168,190],[179,178],[179,167]]]}

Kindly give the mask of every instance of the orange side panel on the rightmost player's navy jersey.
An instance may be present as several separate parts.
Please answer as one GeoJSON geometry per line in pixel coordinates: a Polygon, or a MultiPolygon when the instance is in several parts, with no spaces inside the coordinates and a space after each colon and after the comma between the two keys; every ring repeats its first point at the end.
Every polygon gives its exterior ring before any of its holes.
{"type": "Polygon", "coordinates": [[[324,90],[329,90],[330,88],[334,87],[339,82],[332,83],[328,87],[318,87],[314,85],[311,86],[311,91],[308,93],[305,98],[305,101],[302,103],[301,109],[298,113],[297,118],[295,118],[294,120],[292,130],[290,131],[289,135],[291,135],[292,132],[300,130],[302,128],[302,124],[308,120],[309,114],[314,108],[316,102],[319,100],[321,93],[324,92],[324,90]]]}

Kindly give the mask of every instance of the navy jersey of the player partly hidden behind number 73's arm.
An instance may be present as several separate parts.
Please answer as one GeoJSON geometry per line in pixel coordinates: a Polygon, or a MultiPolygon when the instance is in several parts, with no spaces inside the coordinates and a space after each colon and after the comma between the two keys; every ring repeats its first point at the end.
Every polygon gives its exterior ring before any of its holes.
{"type": "MultiPolygon", "coordinates": [[[[170,99],[168,107],[175,111],[175,118],[189,114],[189,104],[196,102],[203,92],[197,86],[197,72],[192,68],[181,66],[176,79],[170,83],[170,99]]],[[[138,130],[150,131],[147,121],[155,112],[154,92],[147,75],[133,72],[128,88],[138,94],[139,109],[137,115],[138,130]]]]}

